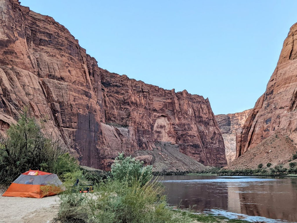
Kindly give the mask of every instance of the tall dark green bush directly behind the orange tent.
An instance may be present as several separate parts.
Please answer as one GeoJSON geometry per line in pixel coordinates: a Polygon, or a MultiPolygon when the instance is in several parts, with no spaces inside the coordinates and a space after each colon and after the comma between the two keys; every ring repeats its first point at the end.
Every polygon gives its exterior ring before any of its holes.
{"type": "Polygon", "coordinates": [[[63,153],[58,141],[46,138],[33,118],[26,112],[0,138],[0,182],[9,183],[29,169],[53,171],[63,153]]]}

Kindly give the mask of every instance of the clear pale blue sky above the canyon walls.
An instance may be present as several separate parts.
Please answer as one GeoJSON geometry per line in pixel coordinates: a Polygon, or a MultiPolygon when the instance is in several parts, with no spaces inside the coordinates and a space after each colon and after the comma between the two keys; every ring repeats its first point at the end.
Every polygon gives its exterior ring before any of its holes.
{"type": "Polygon", "coordinates": [[[99,67],[209,98],[214,114],[252,108],[265,92],[297,1],[40,1],[99,67]]]}

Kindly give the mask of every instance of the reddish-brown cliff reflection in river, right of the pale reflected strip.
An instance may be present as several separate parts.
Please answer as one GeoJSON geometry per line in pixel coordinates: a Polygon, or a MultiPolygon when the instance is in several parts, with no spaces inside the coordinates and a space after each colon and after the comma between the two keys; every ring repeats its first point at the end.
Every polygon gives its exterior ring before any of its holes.
{"type": "Polygon", "coordinates": [[[239,188],[241,213],[296,222],[296,191],[296,180],[289,178],[283,181],[250,184],[248,191],[246,187],[239,188]]]}

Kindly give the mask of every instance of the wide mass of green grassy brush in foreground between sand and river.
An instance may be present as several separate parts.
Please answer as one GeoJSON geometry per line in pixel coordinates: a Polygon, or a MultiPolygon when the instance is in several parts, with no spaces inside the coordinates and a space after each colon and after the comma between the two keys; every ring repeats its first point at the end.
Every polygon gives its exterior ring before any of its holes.
{"type": "Polygon", "coordinates": [[[154,183],[141,186],[139,181],[108,180],[97,185],[92,194],[60,195],[58,219],[62,223],[183,223],[187,216],[172,211],[166,197],[159,194],[154,183]]]}

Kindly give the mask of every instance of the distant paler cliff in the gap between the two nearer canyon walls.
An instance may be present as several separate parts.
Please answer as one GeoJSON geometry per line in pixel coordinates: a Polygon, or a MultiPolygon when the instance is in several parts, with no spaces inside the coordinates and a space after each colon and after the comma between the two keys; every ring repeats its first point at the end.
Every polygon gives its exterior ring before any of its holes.
{"type": "Polygon", "coordinates": [[[251,111],[252,109],[248,109],[234,114],[215,115],[224,139],[225,154],[228,164],[236,158],[236,132],[242,131],[242,126],[251,111]]]}

